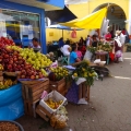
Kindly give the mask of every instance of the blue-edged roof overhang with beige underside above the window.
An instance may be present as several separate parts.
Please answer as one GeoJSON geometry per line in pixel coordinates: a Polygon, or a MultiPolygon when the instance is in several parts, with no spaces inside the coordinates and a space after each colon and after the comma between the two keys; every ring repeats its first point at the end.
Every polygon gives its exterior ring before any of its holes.
{"type": "Polygon", "coordinates": [[[4,1],[35,7],[44,9],[45,11],[61,10],[64,8],[64,0],[49,0],[48,2],[44,2],[43,0],[4,0],[4,1]]]}

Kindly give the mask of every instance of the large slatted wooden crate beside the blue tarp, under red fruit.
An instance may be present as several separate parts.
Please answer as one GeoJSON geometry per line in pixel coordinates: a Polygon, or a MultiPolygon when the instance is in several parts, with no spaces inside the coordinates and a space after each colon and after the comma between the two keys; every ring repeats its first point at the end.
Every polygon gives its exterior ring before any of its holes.
{"type": "Polygon", "coordinates": [[[22,86],[22,94],[24,100],[35,102],[40,98],[44,91],[49,92],[49,80],[38,82],[37,84],[24,85],[22,86]]]}

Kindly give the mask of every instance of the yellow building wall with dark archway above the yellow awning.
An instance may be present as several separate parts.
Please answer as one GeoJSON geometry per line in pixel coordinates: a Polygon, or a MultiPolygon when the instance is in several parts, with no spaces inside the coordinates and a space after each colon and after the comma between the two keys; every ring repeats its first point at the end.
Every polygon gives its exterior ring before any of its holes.
{"type": "Polygon", "coordinates": [[[109,5],[107,19],[110,29],[127,28],[131,35],[131,0],[88,0],[84,3],[69,4],[69,9],[78,17],[84,17],[107,5],[109,5]]]}

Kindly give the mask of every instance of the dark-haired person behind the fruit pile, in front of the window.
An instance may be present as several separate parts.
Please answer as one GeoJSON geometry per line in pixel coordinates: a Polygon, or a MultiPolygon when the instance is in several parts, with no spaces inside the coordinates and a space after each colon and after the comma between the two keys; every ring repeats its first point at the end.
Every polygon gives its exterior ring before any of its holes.
{"type": "Polygon", "coordinates": [[[32,39],[32,44],[29,45],[29,48],[33,48],[34,49],[34,51],[40,51],[40,45],[39,45],[39,43],[38,43],[38,39],[36,38],[36,37],[34,37],[33,39],[32,39]]]}

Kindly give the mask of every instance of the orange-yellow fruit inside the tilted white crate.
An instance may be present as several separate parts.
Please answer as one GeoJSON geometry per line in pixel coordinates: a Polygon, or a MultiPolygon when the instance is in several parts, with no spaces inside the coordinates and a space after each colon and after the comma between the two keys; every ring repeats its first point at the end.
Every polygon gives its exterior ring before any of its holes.
{"type": "Polygon", "coordinates": [[[52,98],[49,98],[48,100],[45,102],[50,108],[52,109],[57,109],[62,103],[63,100],[59,100],[56,102],[52,98]]]}

